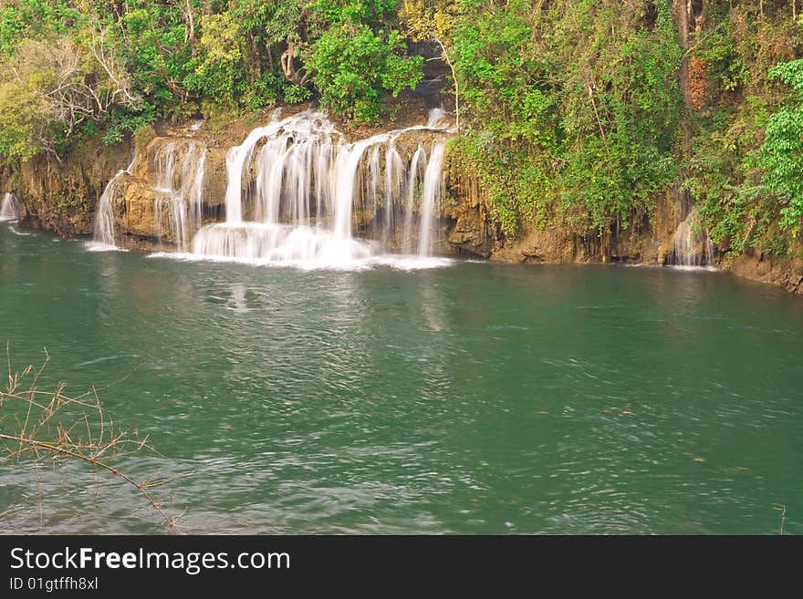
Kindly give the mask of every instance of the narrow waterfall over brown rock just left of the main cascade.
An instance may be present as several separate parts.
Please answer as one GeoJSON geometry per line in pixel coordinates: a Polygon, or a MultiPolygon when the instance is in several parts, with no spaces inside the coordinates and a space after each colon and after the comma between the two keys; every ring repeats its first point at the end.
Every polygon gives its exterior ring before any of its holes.
{"type": "Polygon", "coordinates": [[[168,233],[186,252],[193,232],[203,220],[203,167],[206,148],[192,140],[169,141],[154,152],[157,237],[163,238],[162,212],[167,212],[168,233]]]}

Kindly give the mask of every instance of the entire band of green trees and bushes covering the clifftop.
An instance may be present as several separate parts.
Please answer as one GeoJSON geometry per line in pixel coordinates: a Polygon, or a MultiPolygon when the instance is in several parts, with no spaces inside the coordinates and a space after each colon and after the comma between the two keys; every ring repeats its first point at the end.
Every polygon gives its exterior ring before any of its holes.
{"type": "Polygon", "coordinates": [[[0,157],[318,100],[378,122],[431,42],[453,170],[500,228],[604,237],[692,192],[720,252],[798,252],[803,0],[11,0],[0,157]],[[435,57],[437,58],[437,56],[435,57]]]}

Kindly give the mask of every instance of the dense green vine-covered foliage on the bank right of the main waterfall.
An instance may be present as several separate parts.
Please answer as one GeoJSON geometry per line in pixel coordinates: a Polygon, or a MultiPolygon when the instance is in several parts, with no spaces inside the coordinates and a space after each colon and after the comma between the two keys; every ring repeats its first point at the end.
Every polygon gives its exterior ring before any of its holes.
{"type": "Polygon", "coordinates": [[[508,234],[558,223],[605,236],[684,186],[720,251],[794,251],[800,4],[436,3],[464,108],[454,167],[479,178],[508,234]]]}

